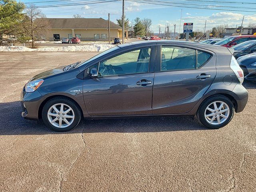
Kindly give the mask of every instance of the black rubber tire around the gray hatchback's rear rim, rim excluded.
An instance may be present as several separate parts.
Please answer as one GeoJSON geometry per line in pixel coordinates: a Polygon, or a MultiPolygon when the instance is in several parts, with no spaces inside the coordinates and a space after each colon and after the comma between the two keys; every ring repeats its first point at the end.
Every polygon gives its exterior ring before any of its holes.
{"type": "MultiPolygon", "coordinates": [[[[210,129],[219,129],[219,128],[222,128],[224,126],[226,126],[230,121],[231,119],[233,118],[234,116],[234,105],[233,103],[230,101],[229,98],[227,98],[226,96],[222,96],[222,95],[216,95],[216,96],[212,96],[210,98],[207,98],[206,100],[204,100],[200,107],[198,108],[197,110],[197,113],[196,113],[196,116],[198,118],[198,120],[204,125],[206,126],[207,128],[210,128],[210,129]],[[226,118],[226,120],[220,124],[210,124],[210,122],[208,122],[206,120],[206,118],[204,117],[204,113],[206,111],[206,108],[208,107],[209,104],[211,104],[212,102],[214,101],[221,101],[221,102],[225,102],[227,105],[228,105],[228,108],[230,110],[229,112],[229,115],[228,115],[228,118],[226,118]]],[[[218,112],[217,112],[218,113],[218,112]]]]}

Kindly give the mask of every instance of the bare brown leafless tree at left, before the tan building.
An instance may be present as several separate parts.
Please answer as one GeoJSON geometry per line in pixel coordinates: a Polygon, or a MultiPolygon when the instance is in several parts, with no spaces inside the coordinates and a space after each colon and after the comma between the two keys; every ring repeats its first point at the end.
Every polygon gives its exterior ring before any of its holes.
{"type": "Polygon", "coordinates": [[[26,16],[24,17],[24,22],[22,26],[24,32],[32,39],[31,48],[36,48],[36,36],[40,36],[42,33],[46,33],[49,28],[49,23],[45,19],[46,16],[42,13],[40,9],[36,8],[34,4],[30,4],[26,8],[25,14],[26,16]]]}

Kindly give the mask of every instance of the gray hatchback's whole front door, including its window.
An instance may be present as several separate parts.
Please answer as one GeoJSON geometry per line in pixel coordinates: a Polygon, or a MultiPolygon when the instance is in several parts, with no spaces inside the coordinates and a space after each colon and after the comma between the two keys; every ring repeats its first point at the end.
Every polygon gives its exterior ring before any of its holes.
{"type": "Polygon", "coordinates": [[[154,71],[149,69],[154,65],[154,54],[152,47],[143,47],[88,67],[87,73],[92,68],[98,70],[98,78],[87,76],[84,80],[88,113],[91,116],[152,114],[154,71]]]}

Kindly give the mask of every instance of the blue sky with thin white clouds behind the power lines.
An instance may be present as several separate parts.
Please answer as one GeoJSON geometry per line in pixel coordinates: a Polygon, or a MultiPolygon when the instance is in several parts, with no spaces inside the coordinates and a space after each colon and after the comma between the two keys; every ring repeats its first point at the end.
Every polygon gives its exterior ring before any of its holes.
{"type": "MultiPolygon", "coordinates": [[[[48,1],[48,0],[40,0],[48,1]]],[[[64,2],[45,2],[36,3],[37,6],[43,5],[54,5],[54,4],[70,4],[78,2],[86,2],[92,0],[69,0],[64,2]]],[[[39,2],[36,0],[23,0],[22,2],[39,2]]],[[[177,1],[172,1],[177,2],[177,1]]],[[[189,3],[186,0],[179,0],[178,2],[189,3]]],[[[243,2],[253,2],[250,0],[243,0],[243,2]]],[[[192,2],[198,4],[198,2],[192,2]]],[[[246,6],[246,7],[256,7],[250,4],[228,4],[223,1],[220,3],[222,6],[246,6]]],[[[205,8],[214,8],[218,6],[217,3],[208,3],[205,8]]],[[[224,8],[225,9],[225,8],[224,8]]],[[[231,9],[232,8],[226,8],[231,9]]],[[[122,1],[118,2],[107,2],[102,4],[88,4],[79,6],[64,6],[64,7],[49,7],[41,8],[42,12],[46,14],[47,18],[72,18],[73,14],[81,14],[84,18],[104,18],[108,19],[108,13],[110,13],[110,20],[115,22],[116,18],[120,18],[122,15],[122,1]]],[[[247,9],[250,10],[250,9],[247,9]]],[[[252,9],[252,10],[256,10],[252,9]]],[[[166,23],[170,25],[170,31],[174,31],[173,24],[176,24],[176,32],[179,32],[180,25],[180,14],[181,8],[170,7],[170,6],[160,6],[153,4],[144,4],[139,2],[125,1],[125,15],[130,21],[134,20],[136,17],[141,19],[150,18],[152,20],[151,29],[154,32],[159,31],[159,25],[161,31],[164,31],[166,23]]],[[[194,30],[203,30],[204,22],[206,22],[206,30],[211,29],[214,26],[220,24],[228,24],[230,27],[240,26],[242,23],[242,17],[245,15],[243,26],[247,26],[249,23],[256,23],[256,12],[238,12],[238,11],[225,11],[225,10],[204,10],[204,9],[194,9],[194,8],[182,8],[182,21],[180,31],[182,32],[184,22],[193,22],[194,30]]]]}

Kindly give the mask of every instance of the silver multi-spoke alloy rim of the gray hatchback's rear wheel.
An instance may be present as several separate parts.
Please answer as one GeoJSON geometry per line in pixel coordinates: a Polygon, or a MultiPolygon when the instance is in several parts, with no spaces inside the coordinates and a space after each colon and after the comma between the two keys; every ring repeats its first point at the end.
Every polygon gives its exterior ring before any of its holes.
{"type": "Polygon", "coordinates": [[[204,118],[212,125],[222,124],[228,119],[230,108],[223,101],[210,103],[204,112],[204,118]]]}

